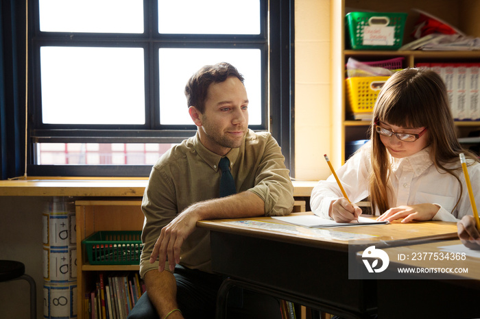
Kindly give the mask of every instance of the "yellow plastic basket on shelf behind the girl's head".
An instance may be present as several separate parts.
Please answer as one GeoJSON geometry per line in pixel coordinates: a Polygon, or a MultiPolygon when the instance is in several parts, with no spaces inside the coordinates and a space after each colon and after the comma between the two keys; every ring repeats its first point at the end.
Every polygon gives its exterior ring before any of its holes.
{"type": "Polygon", "coordinates": [[[376,97],[389,77],[349,77],[346,79],[348,104],[353,114],[373,112],[376,97]]]}

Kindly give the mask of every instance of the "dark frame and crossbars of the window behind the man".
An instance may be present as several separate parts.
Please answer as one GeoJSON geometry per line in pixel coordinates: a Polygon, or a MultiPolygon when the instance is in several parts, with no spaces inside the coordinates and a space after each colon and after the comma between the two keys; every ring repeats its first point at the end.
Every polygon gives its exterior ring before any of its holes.
{"type": "MultiPolygon", "coordinates": [[[[261,76],[265,90],[262,125],[254,130],[268,130],[283,149],[285,164],[293,176],[293,0],[261,0],[261,32],[245,35],[172,35],[158,34],[156,0],[144,0],[144,33],[83,34],[40,32],[38,1],[29,0],[32,14],[32,47],[29,59],[29,156],[27,171],[31,176],[71,177],[147,177],[152,166],[136,165],[37,165],[34,162],[39,142],[160,142],[176,143],[195,134],[195,125],[160,125],[158,107],[158,49],[176,48],[258,48],[261,49],[261,76]],[[268,17],[268,18],[267,18],[268,17]],[[267,30],[270,29],[270,34],[267,30]],[[153,31],[152,31],[153,30],[153,31]],[[135,40],[140,39],[140,40],[135,40]],[[73,40],[74,39],[74,40],[73,40]],[[269,42],[269,46],[268,46],[269,42]],[[208,46],[206,46],[208,44],[208,46]],[[145,49],[145,125],[51,125],[41,121],[40,47],[143,47],[145,49]],[[268,56],[267,56],[268,55],[268,56]],[[152,104],[150,104],[152,103],[152,104]],[[151,106],[149,106],[151,105],[151,106]],[[269,107],[268,107],[269,105],[269,107]]],[[[241,70],[239,70],[241,72],[241,70]]],[[[187,80],[187,79],[186,79],[187,80]]],[[[185,105],[187,110],[187,105],[185,105]]]]}

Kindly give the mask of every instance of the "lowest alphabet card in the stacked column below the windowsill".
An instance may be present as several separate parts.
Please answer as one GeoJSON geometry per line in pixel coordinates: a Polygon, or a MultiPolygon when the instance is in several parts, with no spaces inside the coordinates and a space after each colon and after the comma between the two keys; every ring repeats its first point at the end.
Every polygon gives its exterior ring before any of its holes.
{"type": "Polygon", "coordinates": [[[43,286],[44,318],[77,318],[77,284],[43,286]]]}

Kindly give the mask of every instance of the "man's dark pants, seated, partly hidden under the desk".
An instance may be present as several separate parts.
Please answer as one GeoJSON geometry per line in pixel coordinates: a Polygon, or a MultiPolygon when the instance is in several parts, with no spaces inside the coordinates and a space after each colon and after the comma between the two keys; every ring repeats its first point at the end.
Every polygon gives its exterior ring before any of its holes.
{"type": "MultiPolygon", "coordinates": [[[[217,291],[223,281],[219,275],[208,274],[177,265],[173,274],[177,281],[177,303],[186,319],[215,318],[217,291]]],[[[280,319],[280,303],[276,298],[239,288],[228,293],[228,319],[280,319]]],[[[147,293],[130,311],[129,319],[158,319],[147,293]]],[[[163,318],[160,318],[163,319],[163,318]]]]}

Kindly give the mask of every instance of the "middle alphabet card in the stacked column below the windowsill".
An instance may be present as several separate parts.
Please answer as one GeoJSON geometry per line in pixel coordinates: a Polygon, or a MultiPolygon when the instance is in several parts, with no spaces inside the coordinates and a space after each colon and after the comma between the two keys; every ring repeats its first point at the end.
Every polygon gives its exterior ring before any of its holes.
{"type": "Polygon", "coordinates": [[[77,279],[77,248],[43,247],[43,278],[52,282],[77,279]]]}

